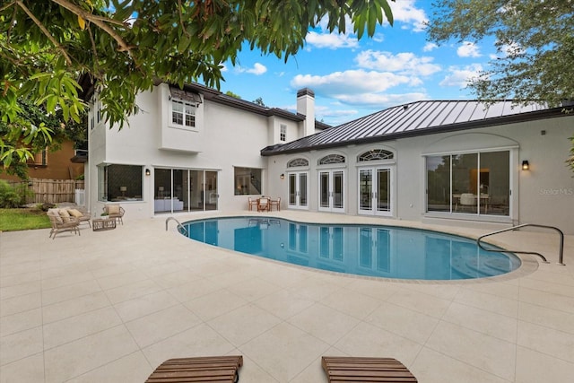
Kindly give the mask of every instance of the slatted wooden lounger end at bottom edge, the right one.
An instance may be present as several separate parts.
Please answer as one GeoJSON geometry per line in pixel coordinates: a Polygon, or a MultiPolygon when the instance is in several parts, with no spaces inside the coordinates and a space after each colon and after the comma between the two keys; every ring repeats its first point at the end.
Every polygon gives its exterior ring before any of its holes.
{"type": "Polygon", "coordinates": [[[417,382],[404,364],[393,358],[324,356],[329,382],[417,382]]]}

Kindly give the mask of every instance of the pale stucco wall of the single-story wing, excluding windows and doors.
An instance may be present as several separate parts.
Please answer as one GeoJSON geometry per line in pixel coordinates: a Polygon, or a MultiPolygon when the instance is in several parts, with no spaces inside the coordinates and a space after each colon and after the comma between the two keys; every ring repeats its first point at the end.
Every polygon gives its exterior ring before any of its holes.
{"type": "MultiPolygon", "coordinates": [[[[394,217],[397,220],[417,222],[438,222],[441,224],[481,227],[538,223],[557,226],[565,233],[574,233],[574,178],[565,166],[564,160],[570,150],[572,119],[568,116],[519,122],[502,126],[475,128],[467,131],[437,133],[384,140],[369,144],[351,144],[277,154],[268,157],[269,177],[279,179],[287,173],[287,163],[294,158],[309,159],[309,211],[318,209],[317,160],[329,153],[341,153],[347,161],[344,190],[344,213],[358,214],[358,169],[357,155],[370,149],[382,148],[396,153],[395,161],[389,163],[396,171],[393,188],[395,196],[394,217]],[[544,131],[544,135],[542,132],[544,131]],[[460,214],[426,213],[426,170],[425,154],[431,152],[472,152],[504,149],[510,152],[512,189],[512,210],[508,217],[482,215],[464,220],[460,214]],[[530,163],[530,170],[521,170],[523,160],[530,163]]],[[[311,148],[309,148],[311,149],[311,148]]],[[[287,200],[287,178],[269,189],[272,196],[287,200]]]]}

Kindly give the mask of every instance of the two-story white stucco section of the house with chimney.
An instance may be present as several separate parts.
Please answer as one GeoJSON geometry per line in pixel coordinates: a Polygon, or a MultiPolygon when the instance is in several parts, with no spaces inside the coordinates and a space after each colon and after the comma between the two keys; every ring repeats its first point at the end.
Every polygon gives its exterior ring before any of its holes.
{"type": "MultiPolygon", "coordinates": [[[[266,108],[198,84],[158,83],[137,95],[140,112],[122,130],[89,114],[86,200],[92,215],[120,202],[126,215],[238,210],[267,194],[260,151],[325,129],[314,94],[299,91],[297,113],[266,108]]],[[[278,181],[278,180],[277,180],[278,181]]]]}

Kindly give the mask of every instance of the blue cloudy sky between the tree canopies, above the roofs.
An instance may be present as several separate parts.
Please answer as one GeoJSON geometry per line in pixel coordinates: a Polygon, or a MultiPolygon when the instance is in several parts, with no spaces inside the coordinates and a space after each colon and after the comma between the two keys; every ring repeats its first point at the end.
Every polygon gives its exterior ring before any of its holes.
{"type": "Polygon", "coordinates": [[[220,91],[294,112],[297,91],[309,88],[317,120],[332,126],[416,100],[473,100],[467,80],[487,68],[496,48],[492,42],[431,43],[424,27],[431,3],[389,2],[394,26],[385,21],[372,38],[365,33],[358,40],[350,23],[346,34],[320,26],[287,63],[243,49],[235,66],[225,65],[220,91]]]}

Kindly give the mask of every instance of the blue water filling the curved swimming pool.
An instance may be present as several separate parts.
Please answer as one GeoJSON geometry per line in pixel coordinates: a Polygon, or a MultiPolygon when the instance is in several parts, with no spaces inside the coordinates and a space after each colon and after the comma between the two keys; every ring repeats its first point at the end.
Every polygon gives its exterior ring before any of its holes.
{"type": "Polygon", "coordinates": [[[520,260],[474,239],[372,225],[309,224],[262,217],[186,222],[187,237],[220,248],[345,274],[460,280],[506,274],[520,260]]]}

